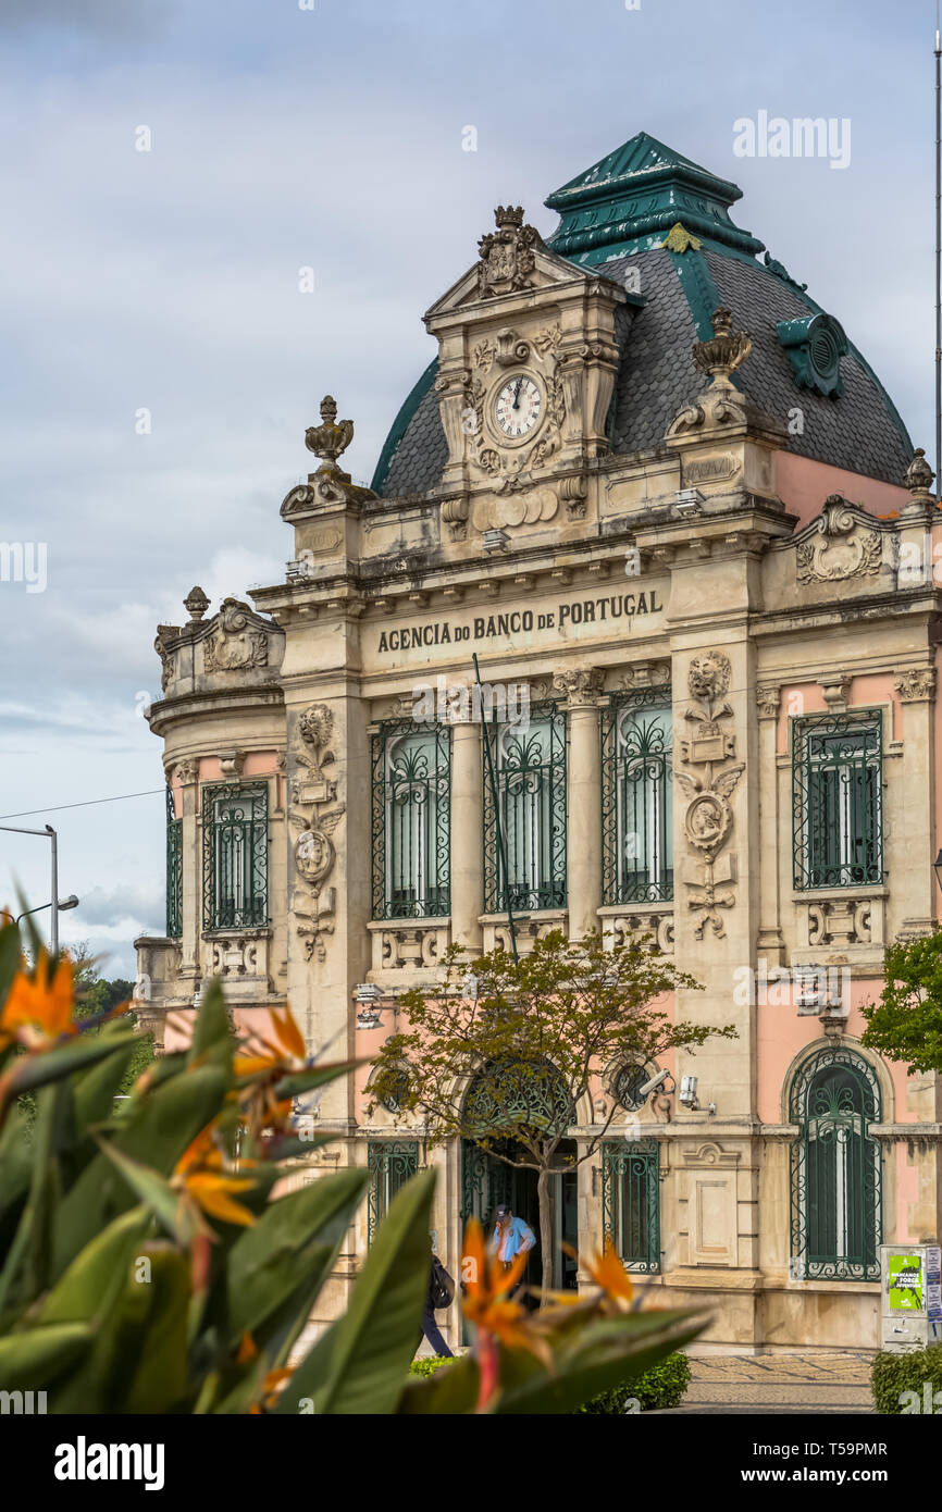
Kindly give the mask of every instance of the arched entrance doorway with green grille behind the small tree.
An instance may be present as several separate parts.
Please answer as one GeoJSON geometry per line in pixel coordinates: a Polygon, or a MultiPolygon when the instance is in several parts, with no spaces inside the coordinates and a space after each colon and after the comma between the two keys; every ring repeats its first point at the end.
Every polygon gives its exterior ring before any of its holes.
{"type": "MultiPolygon", "coordinates": [[[[553,1066],[516,1066],[494,1063],[485,1066],[472,1081],[464,1102],[466,1119],[479,1125],[481,1139],[461,1142],[461,1222],[476,1217],[485,1232],[494,1208],[508,1202],[511,1210],[532,1228],[537,1244],[531,1250],[525,1284],[540,1285],[543,1253],[540,1246],[540,1205],[537,1170],[510,1164],[526,1160],[528,1152],[514,1139],[522,1125],[547,1134],[566,1134],[569,1101],[562,1080],[553,1066]],[[500,1137],[500,1131],[507,1136],[500,1137]]],[[[576,1204],[576,1142],[559,1139],[553,1166],[566,1170],[550,1181],[552,1284],[558,1290],[576,1290],[576,1261],[562,1244],[576,1249],[579,1238],[576,1204]]]]}

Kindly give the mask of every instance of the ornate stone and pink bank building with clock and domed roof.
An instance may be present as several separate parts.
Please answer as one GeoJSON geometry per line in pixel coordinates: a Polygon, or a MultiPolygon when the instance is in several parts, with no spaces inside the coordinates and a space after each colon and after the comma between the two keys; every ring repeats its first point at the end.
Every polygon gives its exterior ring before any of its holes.
{"type": "MultiPolygon", "coordinates": [[[[714,1306],[711,1341],[875,1346],[878,1244],[934,1238],[942,1201],[936,1078],[859,1043],[885,942],[937,916],[939,513],[738,197],[641,133],[550,197],[547,243],[500,207],[372,488],[324,401],[286,581],[215,615],[194,590],[157,632],[168,930],[139,963],[159,1037],[221,974],[242,1022],[287,999],[311,1051],[369,1057],[451,942],[508,942],[508,901],[522,950],[653,936],[703,984],[676,1012],[738,1037],[647,1096],[658,1067],[609,1070],[558,1235],[608,1229],[664,1303],[714,1306]]],[[[508,1194],[479,1151],[369,1120],[366,1077],[293,1176],[372,1170],[328,1309],[419,1163],[452,1272],[508,1194]]]]}

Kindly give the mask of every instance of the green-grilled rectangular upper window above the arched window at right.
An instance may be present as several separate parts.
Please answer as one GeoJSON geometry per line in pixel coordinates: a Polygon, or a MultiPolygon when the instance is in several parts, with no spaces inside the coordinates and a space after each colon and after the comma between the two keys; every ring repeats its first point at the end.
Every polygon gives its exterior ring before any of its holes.
{"type": "Polygon", "coordinates": [[[883,881],[878,712],[795,721],[792,835],[795,889],[883,881]]]}

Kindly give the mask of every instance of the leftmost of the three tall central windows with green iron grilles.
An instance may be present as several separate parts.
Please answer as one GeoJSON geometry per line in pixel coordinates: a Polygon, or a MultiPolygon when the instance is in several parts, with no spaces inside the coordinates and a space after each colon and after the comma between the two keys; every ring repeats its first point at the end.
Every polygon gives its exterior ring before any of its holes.
{"type": "Polygon", "coordinates": [[[451,912],[451,738],[386,721],[372,750],[373,918],[451,912]]]}

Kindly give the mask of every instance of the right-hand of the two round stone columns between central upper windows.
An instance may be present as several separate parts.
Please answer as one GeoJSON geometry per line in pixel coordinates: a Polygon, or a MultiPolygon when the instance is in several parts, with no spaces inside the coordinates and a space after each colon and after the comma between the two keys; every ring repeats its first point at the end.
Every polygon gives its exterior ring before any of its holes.
{"type": "Polygon", "coordinates": [[[602,671],[584,667],[559,671],[553,689],[566,694],[569,759],[566,794],[566,853],[569,881],[569,937],[584,939],[599,928],[602,907],[602,750],[599,694],[602,671]]]}

